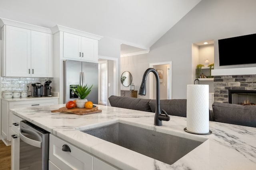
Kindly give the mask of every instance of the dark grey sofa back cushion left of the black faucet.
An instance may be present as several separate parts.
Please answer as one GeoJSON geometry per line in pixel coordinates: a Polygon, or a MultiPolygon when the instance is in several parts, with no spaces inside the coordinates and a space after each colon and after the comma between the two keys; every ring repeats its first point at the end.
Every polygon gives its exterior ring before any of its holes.
{"type": "Polygon", "coordinates": [[[110,96],[108,101],[113,107],[122,107],[126,109],[134,109],[141,111],[150,111],[149,107],[150,99],[110,96]]]}

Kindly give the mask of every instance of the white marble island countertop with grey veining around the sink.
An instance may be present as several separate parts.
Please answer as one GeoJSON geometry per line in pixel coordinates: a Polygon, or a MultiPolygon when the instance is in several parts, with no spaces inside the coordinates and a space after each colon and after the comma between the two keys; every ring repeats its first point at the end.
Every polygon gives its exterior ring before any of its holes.
{"type": "Polygon", "coordinates": [[[170,121],[162,121],[162,126],[154,126],[154,113],[118,107],[97,105],[102,112],[89,115],[51,113],[51,110],[63,106],[65,105],[16,108],[11,111],[121,169],[255,170],[256,168],[256,128],[254,127],[210,121],[212,134],[194,135],[184,131],[185,117],[170,116],[170,121]],[[205,142],[169,165],[80,131],[116,122],[205,142]]]}

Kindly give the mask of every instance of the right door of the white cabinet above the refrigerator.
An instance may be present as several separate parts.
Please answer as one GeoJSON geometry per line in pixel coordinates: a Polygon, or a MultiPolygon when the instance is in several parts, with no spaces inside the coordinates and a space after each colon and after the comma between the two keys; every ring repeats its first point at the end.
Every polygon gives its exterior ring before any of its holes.
{"type": "Polygon", "coordinates": [[[98,41],[81,37],[82,61],[98,61],[98,41]]]}

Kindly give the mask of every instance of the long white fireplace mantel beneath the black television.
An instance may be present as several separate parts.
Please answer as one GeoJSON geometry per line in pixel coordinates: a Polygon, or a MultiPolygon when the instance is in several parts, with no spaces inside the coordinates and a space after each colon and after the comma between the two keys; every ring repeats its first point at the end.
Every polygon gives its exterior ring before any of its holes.
{"type": "Polygon", "coordinates": [[[212,70],[212,76],[249,75],[256,74],[256,67],[223,68],[212,70]]]}

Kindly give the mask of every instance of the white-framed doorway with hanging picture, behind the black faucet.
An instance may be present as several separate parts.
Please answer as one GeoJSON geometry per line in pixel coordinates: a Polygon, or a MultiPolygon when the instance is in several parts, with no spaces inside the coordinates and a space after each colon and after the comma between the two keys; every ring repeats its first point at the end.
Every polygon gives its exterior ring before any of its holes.
{"type": "MultiPolygon", "coordinates": [[[[163,72],[163,80],[160,82],[160,99],[172,99],[172,61],[150,63],[149,67],[163,72]]],[[[149,74],[149,98],[156,98],[156,80],[153,74],[149,74]]]]}

